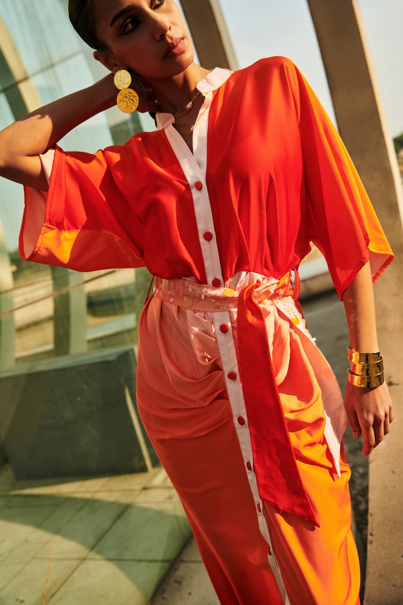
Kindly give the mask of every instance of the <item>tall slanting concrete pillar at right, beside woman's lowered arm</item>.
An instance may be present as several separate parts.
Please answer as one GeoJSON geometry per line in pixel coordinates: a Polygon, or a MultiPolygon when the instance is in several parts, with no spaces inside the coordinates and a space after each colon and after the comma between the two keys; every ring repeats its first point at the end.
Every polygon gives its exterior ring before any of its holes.
{"type": "Polygon", "coordinates": [[[403,602],[403,190],[356,0],[308,0],[341,138],[396,255],[374,286],[378,342],[396,422],[369,455],[365,605],[403,602]]]}

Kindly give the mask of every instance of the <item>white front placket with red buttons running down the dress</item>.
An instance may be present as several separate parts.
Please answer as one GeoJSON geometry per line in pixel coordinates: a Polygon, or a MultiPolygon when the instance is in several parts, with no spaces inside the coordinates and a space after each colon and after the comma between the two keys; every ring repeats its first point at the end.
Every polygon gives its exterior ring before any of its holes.
{"type": "MultiPolygon", "coordinates": [[[[218,70],[218,68],[216,69],[218,70]]],[[[225,79],[227,79],[227,77],[225,77],[225,79]]],[[[205,80],[202,82],[204,81],[205,80]]],[[[221,261],[218,252],[216,234],[214,231],[210,198],[208,197],[207,186],[205,183],[205,174],[207,169],[208,111],[210,110],[211,100],[213,99],[213,92],[211,90],[203,90],[203,87],[199,88],[199,90],[201,90],[201,93],[204,94],[205,100],[196,119],[195,128],[193,129],[193,154],[182,139],[181,135],[176,131],[175,128],[173,128],[171,120],[169,120],[167,123],[165,132],[192,191],[196,221],[198,224],[199,241],[204,259],[205,273],[207,276],[207,284],[209,284],[211,287],[228,287],[228,283],[223,283],[221,261]],[[208,239],[204,237],[207,233],[209,234],[208,239]],[[212,236],[211,238],[210,234],[212,236]]],[[[236,313],[235,309],[233,310],[233,314],[234,313],[236,313]]],[[[248,427],[248,417],[245,400],[243,398],[242,385],[240,384],[240,380],[238,378],[239,370],[233,333],[231,330],[230,312],[214,311],[212,315],[214,318],[214,329],[221,355],[222,367],[224,369],[228,397],[230,399],[231,410],[234,418],[234,425],[245,463],[245,472],[247,473],[248,482],[250,484],[256,506],[259,529],[269,545],[268,562],[274,577],[276,578],[283,601],[285,605],[289,605],[289,598],[286,594],[283,578],[277,564],[276,554],[272,549],[268,523],[266,521],[265,512],[263,511],[263,503],[260,499],[259,491],[257,489],[256,476],[253,471],[251,437],[248,427]],[[228,374],[230,374],[231,378],[228,378],[228,374]],[[234,377],[234,374],[236,374],[236,377],[234,377]]]]}

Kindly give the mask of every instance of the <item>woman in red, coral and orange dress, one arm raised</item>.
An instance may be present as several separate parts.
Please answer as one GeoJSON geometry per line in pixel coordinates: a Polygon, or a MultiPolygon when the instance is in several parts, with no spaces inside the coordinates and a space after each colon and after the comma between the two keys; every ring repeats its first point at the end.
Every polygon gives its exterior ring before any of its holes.
{"type": "Polygon", "coordinates": [[[355,605],[342,436],[347,410],[368,455],[393,420],[379,355],[364,355],[393,255],[346,148],[286,57],[196,65],[173,0],[70,0],[69,14],[111,74],[0,133],[1,175],[25,189],[22,258],[156,276],[138,410],[222,605],[355,605]],[[116,103],[119,70],[158,129],[63,151],[116,103]],[[346,308],[345,407],[296,300],[310,242],[346,308]]]}

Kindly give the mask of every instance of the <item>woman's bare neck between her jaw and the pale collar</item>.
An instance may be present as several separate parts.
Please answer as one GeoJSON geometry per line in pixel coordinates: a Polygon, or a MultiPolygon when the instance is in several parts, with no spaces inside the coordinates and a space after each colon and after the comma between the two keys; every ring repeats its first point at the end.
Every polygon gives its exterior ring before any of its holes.
{"type": "Polygon", "coordinates": [[[193,62],[178,76],[164,80],[147,79],[147,82],[160,102],[161,110],[175,116],[182,113],[187,103],[195,97],[195,94],[197,94],[196,84],[208,73],[209,70],[193,62]]]}

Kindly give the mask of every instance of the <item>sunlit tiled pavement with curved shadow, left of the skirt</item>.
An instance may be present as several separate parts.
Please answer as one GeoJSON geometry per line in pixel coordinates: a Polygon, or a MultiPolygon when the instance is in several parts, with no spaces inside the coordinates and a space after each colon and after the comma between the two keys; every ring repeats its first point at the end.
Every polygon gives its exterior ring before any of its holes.
{"type": "Polygon", "coordinates": [[[0,604],[147,605],[191,535],[163,468],[16,481],[5,465],[0,604]]]}

